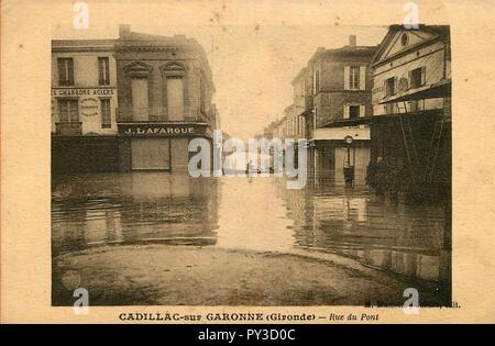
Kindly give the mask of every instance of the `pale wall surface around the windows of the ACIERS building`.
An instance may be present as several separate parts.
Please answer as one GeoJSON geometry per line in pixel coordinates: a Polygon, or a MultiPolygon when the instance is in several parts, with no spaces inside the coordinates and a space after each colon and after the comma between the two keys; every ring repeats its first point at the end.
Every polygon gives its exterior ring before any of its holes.
{"type": "Polygon", "coordinates": [[[113,135],[117,133],[117,69],[113,51],[74,52],[67,46],[67,52],[52,53],[52,133],[56,133],[56,123],[61,121],[57,100],[76,98],[78,100],[81,134],[113,135]],[[58,85],[57,58],[69,57],[74,60],[74,86],[58,85]],[[110,85],[98,83],[98,57],[109,58],[110,85]],[[74,94],[79,92],[79,94],[74,94]],[[73,94],[72,94],[73,93],[73,94]],[[110,99],[111,127],[101,126],[101,98],[110,99]]]}

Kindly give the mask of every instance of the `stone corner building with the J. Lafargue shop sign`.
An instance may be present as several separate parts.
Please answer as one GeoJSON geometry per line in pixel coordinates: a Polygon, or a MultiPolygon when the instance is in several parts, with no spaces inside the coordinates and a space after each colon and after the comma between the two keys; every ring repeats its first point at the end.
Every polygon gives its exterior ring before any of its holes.
{"type": "Polygon", "coordinates": [[[147,35],[121,25],[116,43],[120,169],[187,171],[193,137],[211,143],[215,86],[194,38],[147,35]]]}

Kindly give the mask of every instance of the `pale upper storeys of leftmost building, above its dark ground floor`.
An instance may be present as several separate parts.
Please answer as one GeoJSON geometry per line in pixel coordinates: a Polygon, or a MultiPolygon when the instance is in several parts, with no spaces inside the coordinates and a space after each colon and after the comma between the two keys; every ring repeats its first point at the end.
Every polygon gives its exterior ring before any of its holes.
{"type": "Polygon", "coordinates": [[[116,135],[113,40],[52,41],[52,133],[116,135]]]}

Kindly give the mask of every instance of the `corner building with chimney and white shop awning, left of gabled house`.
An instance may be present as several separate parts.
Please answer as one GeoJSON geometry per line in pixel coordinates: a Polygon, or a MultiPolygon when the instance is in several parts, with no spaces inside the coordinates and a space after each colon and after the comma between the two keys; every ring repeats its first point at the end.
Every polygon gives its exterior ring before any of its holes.
{"type": "Polygon", "coordinates": [[[298,86],[295,103],[300,110],[304,89],[311,175],[341,185],[344,166],[351,166],[355,182],[364,185],[372,114],[369,64],[375,51],[375,46],[358,46],[355,36],[350,36],[349,45],[341,48],[320,47],[308,62],[305,77],[298,76],[293,82],[306,82],[305,88],[298,86]]]}

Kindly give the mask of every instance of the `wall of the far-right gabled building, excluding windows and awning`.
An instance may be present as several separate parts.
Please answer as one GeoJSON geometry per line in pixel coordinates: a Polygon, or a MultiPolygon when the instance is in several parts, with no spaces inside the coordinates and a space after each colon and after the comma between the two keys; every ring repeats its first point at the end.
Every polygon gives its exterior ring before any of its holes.
{"type": "MultiPolygon", "coordinates": [[[[402,169],[404,175],[414,182],[409,187],[411,190],[418,190],[421,185],[427,183],[426,167],[431,167],[431,165],[435,165],[431,183],[441,187],[444,191],[449,190],[452,171],[451,98],[446,91],[444,98],[406,101],[399,104],[397,102],[380,104],[380,102],[387,99],[393,101],[393,98],[407,96],[418,90],[428,90],[440,81],[450,82],[450,46],[447,36],[446,27],[435,29],[431,26],[419,31],[399,29],[396,32],[391,29],[382,44],[381,56],[373,63],[372,102],[375,121],[372,125],[371,160],[373,163],[383,161],[385,165],[402,169]],[[406,40],[402,40],[403,37],[406,40]],[[421,70],[421,80],[419,86],[411,88],[410,71],[415,69],[421,70]],[[386,93],[385,81],[389,78],[396,80],[395,92],[392,96],[386,93]],[[425,112],[428,110],[439,111],[425,112]],[[410,163],[399,116],[383,116],[385,114],[404,114],[406,111],[414,112],[410,116],[403,118],[407,119],[417,153],[417,158],[410,163]],[[442,122],[440,115],[446,115],[447,121],[442,122]],[[439,124],[442,124],[440,142],[433,144],[433,133],[440,129],[439,124]],[[431,155],[435,153],[433,150],[438,150],[436,157],[431,155]],[[433,158],[435,161],[432,161],[433,158]]],[[[408,141],[408,143],[410,142],[408,141]]],[[[433,190],[431,189],[431,191],[433,190]]]]}

